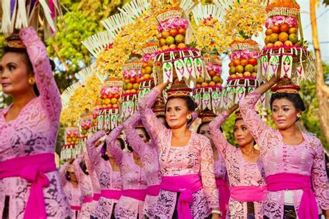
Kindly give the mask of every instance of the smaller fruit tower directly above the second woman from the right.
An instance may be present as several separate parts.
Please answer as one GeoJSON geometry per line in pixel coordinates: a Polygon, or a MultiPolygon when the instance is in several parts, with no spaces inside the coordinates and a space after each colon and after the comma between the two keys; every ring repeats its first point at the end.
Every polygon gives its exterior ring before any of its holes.
{"type": "MultiPolygon", "coordinates": [[[[238,103],[246,94],[260,86],[257,79],[259,47],[253,40],[233,41],[231,43],[229,77],[223,89],[220,107],[227,109],[238,103]]],[[[261,97],[265,103],[266,95],[261,97]]]]}

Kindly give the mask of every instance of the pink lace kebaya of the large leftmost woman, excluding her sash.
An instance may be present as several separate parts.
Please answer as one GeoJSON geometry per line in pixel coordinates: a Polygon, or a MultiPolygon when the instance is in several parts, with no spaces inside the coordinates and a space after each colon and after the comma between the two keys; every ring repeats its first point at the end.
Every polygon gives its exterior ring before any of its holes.
{"type": "MultiPolygon", "coordinates": [[[[60,93],[53,78],[46,47],[33,28],[24,28],[19,37],[27,47],[33,65],[40,96],[31,100],[17,119],[6,121],[12,107],[0,110],[0,161],[15,157],[54,152],[59,127],[60,93]]],[[[50,185],[44,188],[44,201],[48,218],[70,216],[69,203],[60,184],[58,171],[46,173],[50,185]]],[[[9,197],[9,218],[23,218],[31,183],[20,177],[0,179],[0,218],[6,196],[9,197]]]]}

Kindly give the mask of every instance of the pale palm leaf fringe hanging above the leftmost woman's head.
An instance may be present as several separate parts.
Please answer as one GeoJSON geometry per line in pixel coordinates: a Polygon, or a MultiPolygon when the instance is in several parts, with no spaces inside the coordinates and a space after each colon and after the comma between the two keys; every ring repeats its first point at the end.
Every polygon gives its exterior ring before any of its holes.
{"type": "Polygon", "coordinates": [[[3,0],[1,32],[11,34],[15,29],[42,26],[44,36],[56,32],[56,18],[62,16],[58,0],[3,0]]]}

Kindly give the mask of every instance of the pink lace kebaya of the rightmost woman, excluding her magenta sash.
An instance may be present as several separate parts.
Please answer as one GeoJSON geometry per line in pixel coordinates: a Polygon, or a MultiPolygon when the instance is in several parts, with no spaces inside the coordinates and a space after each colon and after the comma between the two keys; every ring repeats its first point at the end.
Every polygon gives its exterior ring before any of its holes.
{"type": "MultiPolygon", "coordinates": [[[[266,175],[276,173],[309,175],[312,179],[312,188],[317,198],[319,210],[328,210],[328,178],[321,141],[311,134],[302,132],[304,141],[301,144],[297,146],[285,144],[280,132],[264,123],[255,112],[255,103],[259,98],[260,94],[254,91],[239,103],[239,107],[248,130],[260,146],[260,156],[264,161],[266,175]]],[[[298,211],[303,192],[294,190],[292,193],[294,207],[298,211]]],[[[284,202],[284,191],[268,191],[262,207],[264,215],[269,218],[283,218],[284,202]]]]}

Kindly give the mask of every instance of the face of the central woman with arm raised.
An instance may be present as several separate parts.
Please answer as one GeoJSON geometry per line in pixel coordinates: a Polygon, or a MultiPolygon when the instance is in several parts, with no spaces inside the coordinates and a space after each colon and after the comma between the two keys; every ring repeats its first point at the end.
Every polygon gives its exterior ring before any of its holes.
{"type": "Polygon", "coordinates": [[[176,129],[187,124],[188,111],[185,100],[172,98],[167,102],[166,121],[170,128],[176,129]]]}

